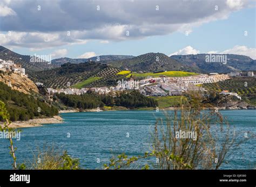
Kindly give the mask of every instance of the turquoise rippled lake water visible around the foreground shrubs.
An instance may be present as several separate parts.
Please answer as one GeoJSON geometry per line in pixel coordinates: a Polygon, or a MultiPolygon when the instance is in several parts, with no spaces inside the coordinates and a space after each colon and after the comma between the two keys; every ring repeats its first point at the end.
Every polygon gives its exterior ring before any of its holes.
{"type": "MultiPolygon", "coordinates": [[[[171,111],[170,111],[171,112],[171,111]]],[[[256,134],[256,110],[221,111],[235,127],[238,136],[245,132],[256,134]]],[[[23,128],[21,140],[14,140],[19,163],[33,157],[37,147],[55,145],[68,150],[80,159],[86,169],[101,169],[102,164],[116,154],[140,155],[150,149],[150,131],[156,117],[154,111],[107,111],[63,113],[63,124],[23,128]],[[68,135],[70,133],[70,138],[68,135]],[[129,138],[127,138],[129,133],[129,138]],[[97,163],[99,159],[99,163],[97,163]]],[[[235,150],[222,169],[252,169],[256,167],[256,138],[243,143],[235,150]]],[[[9,142],[0,139],[0,169],[11,169],[9,142]]]]}

